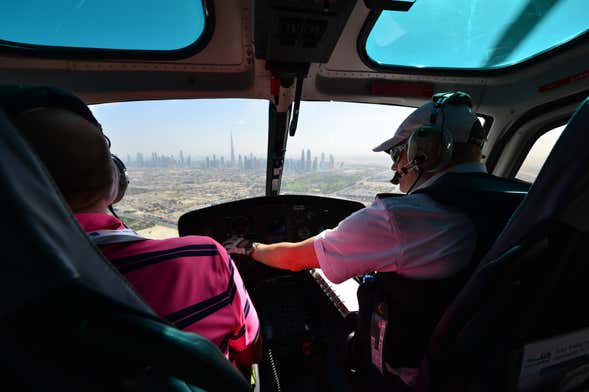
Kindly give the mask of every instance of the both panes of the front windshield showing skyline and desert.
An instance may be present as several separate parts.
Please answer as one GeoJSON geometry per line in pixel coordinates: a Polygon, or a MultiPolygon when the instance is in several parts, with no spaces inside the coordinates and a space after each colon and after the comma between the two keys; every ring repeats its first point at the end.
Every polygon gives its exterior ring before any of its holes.
{"type": "MultiPolygon", "coordinates": [[[[214,204],[263,196],[268,101],[194,99],[92,106],[130,184],[117,213],[136,230],[173,234],[178,218],[214,204]],[[172,232],[170,232],[170,230],[172,232]]],[[[389,183],[391,159],[372,148],[413,108],[303,102],[287,143],[281,193],[369,204],[389,183]]]]}

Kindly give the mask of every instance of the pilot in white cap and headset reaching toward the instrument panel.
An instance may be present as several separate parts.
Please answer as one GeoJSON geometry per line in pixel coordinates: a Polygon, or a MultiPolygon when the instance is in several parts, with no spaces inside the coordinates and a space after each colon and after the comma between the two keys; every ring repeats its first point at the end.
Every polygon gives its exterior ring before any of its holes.
{"type": "Polygon", "coordinates": [[[391,182],[407,195],[379,195],[337,227],[301,242],[225,244],[230,253],[271,267],[321,268],[334,283],[362,276],[352,340],[360,363],[354,367],[390,385],[415,382],[441,314],[519,201],[495,200],[491,207],[484,190],[527,190],[486,174],[485,133],[471,105],[464,92],[436,94],[374,148],[390,155],[391,182]]]}

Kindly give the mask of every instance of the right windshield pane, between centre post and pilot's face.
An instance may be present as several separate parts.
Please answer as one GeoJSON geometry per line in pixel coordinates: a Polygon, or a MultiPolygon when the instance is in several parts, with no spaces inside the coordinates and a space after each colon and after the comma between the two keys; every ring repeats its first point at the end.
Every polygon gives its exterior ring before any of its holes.
{"type": "Polygon", "coordinates": [[[391,138],[414,109],[346,102],[303,102],[289,138],[281,193],[339,197],[369,204],[389,183],[391,159],[372,148],[391,138]]]}

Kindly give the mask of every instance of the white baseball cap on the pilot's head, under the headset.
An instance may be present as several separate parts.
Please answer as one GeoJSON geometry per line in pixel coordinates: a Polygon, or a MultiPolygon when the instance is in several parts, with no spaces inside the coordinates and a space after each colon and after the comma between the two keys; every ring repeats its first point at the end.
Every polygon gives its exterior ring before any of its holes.
{"type": "MultiPolygon", "coordinates": [[[[433,105],[434,103],[429,101],[417,108],[399,125],[392,138],[374,147],[372,151],[388,151],[397,144],[409,139],[409,136],[417,129],[429,125],[433,105]]],[[[475,121],[478,121],[478,117],[467,105],[446,104],[436,117],[436,125],[443,124],[444,128],[452,133],[454,143],[468,142],[475,121]]]]}

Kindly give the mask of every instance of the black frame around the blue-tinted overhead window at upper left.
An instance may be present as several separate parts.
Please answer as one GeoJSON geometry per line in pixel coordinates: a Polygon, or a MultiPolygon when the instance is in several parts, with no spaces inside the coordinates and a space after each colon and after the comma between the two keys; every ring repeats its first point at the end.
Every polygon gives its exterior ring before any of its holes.
{"type": "Polygon", "coordinates": [[[70,46],[33,45],[0,39],[0,53],[33,55],[42,58],[66,58],[71,60],[181,60],[195,55],[210,42],[215,31],[215,9],[212,0],[201,0],[204,14],[204,30],[196,41],[174,50],[96,49],[70,46]]]}

